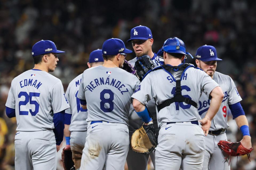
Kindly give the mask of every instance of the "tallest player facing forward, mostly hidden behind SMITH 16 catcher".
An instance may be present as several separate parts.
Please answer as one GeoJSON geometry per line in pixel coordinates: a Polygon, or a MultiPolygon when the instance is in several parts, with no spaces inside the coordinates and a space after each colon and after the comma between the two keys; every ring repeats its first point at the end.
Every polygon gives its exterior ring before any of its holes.
{"type": "MultiPolygon", "coordinates": [[[[131,38],[127,42],[131,42],[133,46],[133,50],[136,54],[136,57],[129,61],[131,65],[135,65],[135,62],[137,61],[138,57],[148,55],[151,57],[151,60],[153,61],[155,67],[163,65],[163,59],[157,56],[157,54],[152,52],[152,45],[153,45],[153,35],[151,33],[151,30],[146,27],[139,25],[137,27],[134,27],[131,29],[131,38]]],[[[157,118],[156,118],[156,109],[155,109],[155,101],[151,100],[147,104],[147,108],[149,109],[149,112],[153,116],[154,121],[154,127],[156,130],[156,134],[158,136],[158,124],[157,124],[157,118]]],[[[143,121],[136,120],[136,121],[129,121],[129,130],[130,132],[134,131],[135,129],[138,129],[143,124],[143,121]]],[[[132,133],[129,133],[130,135],[132,133]]],[[[152,163],[155,167],[155,152],[150,153],[150,158],[152,160],[152,163]]],[[[142,155],[136,152],[133,152],[131,149],[128,151],[128,155],[126,158],[128,169],[133,170],[147,170],[147,162],[149,159],[149,155],[142,155]]]]}

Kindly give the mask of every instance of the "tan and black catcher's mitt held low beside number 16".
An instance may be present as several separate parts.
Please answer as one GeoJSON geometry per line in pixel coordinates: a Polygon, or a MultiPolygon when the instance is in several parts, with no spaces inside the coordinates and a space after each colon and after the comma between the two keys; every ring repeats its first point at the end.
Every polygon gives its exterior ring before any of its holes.
{"type": "Polygon", "coordinates": [[[131,148],[141,154],[149,154],[157,146],[153,122],[149,125],[142,125],[135,130],[131,136],[131,148]]]}

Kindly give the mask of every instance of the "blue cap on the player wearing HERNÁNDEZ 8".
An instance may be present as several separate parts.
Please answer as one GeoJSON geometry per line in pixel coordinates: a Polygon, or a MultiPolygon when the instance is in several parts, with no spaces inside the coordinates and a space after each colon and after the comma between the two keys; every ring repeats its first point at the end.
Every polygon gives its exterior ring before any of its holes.
{"type": "Polygon", "coordinates": [[[118,53],[132,53],[132,50],[126,49],[125,44],[118,38],[106,40],[102,45],[102,54],[117,55],[118,53]]]}

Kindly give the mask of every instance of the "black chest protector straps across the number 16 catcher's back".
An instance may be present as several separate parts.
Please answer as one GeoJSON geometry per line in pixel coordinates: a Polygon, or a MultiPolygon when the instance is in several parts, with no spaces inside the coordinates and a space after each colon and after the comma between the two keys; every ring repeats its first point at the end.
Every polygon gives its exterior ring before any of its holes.
{"type": "Polygon", "coordinates": [[[194,66],[189,65],[187,63],[182,64],[180,66],[162,65],[162,68],[165,69],[166,71],[168,71],[169,73],[171,73],[171,75],[173,75],[173,78],[175,78],[175,80],[176,80],[176,90],[175,90],[176,94],[174,95],[173,98],[165,100],[163,103],[157,105],[158,111],[169,106],[170,104],[172,104],[174,102],[185,102],[186,104],[190,104],[190,105],[194,106],[195,108],[197,108],[196,102],[194,102],[193,100],[191,100],[188,97],[182,96],[182,94],[181,94],[181,91],[182,91],[181,76],[183,75],[183,72],[184,72],[184,70],[186,70],[187,67],[194,67],[194,66]]]}

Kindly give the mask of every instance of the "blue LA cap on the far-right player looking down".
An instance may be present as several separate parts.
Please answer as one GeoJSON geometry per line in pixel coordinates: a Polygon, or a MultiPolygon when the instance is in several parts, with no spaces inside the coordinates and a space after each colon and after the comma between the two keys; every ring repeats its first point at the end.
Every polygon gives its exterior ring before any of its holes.
{"type": "Polygon", "coordinates": [[[201,61],[217,61],[221,60],[217,57],[217,52],[214,46],[203,45],[197,49],[195,58],[201,61]]]}

